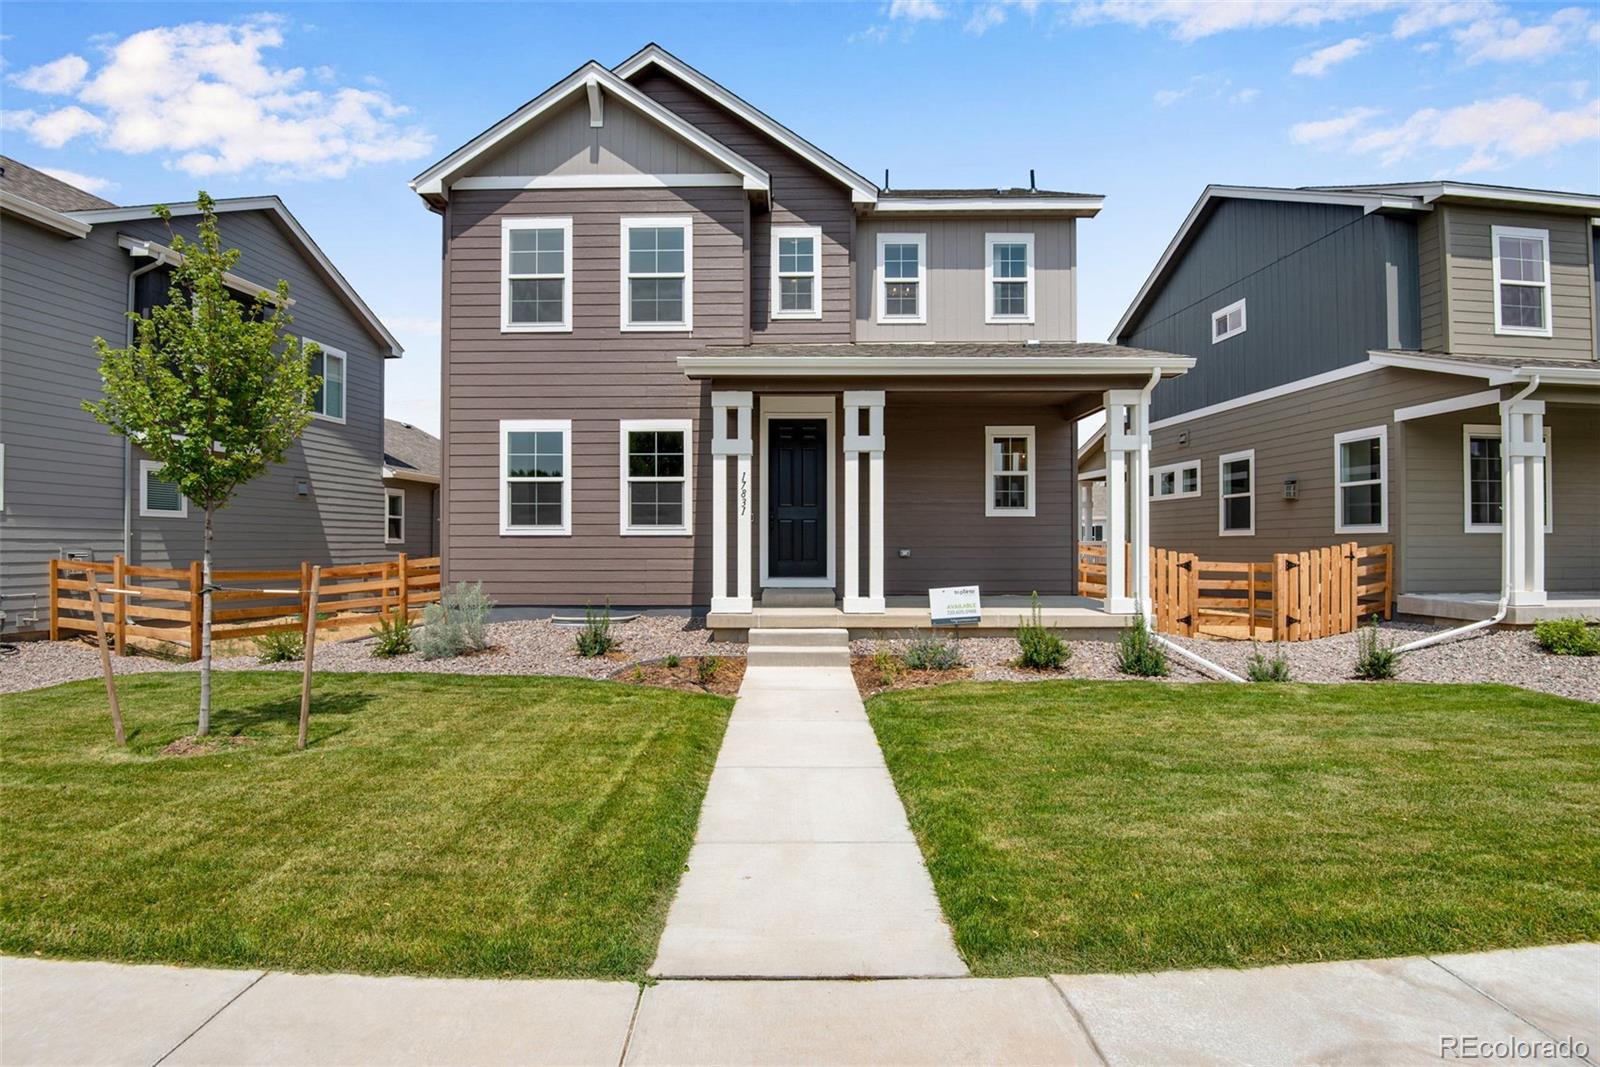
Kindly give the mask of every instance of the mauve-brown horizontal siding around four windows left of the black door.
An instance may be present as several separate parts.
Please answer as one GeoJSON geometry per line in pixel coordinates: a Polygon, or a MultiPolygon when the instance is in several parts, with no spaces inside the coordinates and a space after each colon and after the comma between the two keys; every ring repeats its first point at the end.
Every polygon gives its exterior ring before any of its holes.
{"type": "Polygon", "coordinates": [[[742,344],[741,189],[456,190],[445,214],[443,526],[450,581],[502,605],[688,606],[710,597],[710,389],[677,357],[742,344]],[[693,333],[621,330],[621,219],[691,216],[693,333]],[[501,333],[501,219],[573,219],[573,331],[501,333]],[[499,533],[499,422],[571,419],[571,536],[499,533]],[[621,419],[693,419],[696,536],[624,537],[621,419]]]}

